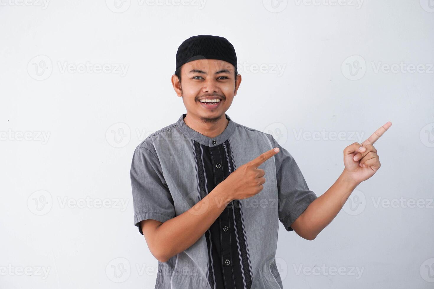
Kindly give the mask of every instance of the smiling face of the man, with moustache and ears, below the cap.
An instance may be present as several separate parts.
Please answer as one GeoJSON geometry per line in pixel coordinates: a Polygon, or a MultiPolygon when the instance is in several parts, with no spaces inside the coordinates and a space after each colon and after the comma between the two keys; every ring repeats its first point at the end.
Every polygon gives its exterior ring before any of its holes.
{"type": "Polygon", "coordinates": [[[201,122],[215,122],[229,109],[237,95],[241,75],[235,67],[217,59],[198,59],[181,67],[181,82],[172,75],[172,85],[182,97],[187,115],[201,122]]]}

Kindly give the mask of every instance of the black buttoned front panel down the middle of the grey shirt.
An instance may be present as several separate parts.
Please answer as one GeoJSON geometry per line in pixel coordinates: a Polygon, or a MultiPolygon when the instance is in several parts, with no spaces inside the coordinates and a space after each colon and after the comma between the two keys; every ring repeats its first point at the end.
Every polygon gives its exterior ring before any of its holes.
{"type": "MultiPolygon", "coordinates": [[[[225,145],[229,149],[229,143],[225,142],[225,145]]],[[[230,153],[228,156],[224,144],[205,146],[194,142],[194,150],[201,191],[204,190],[209,193],[233,172],[230,153]]],[[[201,194],[201,197],[203,198],[204,194],[201,194]]],[[[240,211],[236,207],[237,205],[233,204],[234,202],[237,200],[232,201],[224,208],[205,233],[210,261],[208,281],[213,289],[250,288],[250,275],[246,274],[249,267],[245,258],[244,237],[242,227],[239,226],[240,211]],[[237,228],[235,224],[237,224],[237,228]],[[241,248],[240,241],[242,241],[241,248]],[[241,252],[242,258],[240,258],[239,252],[241,252]],[[243,265],[240,259],[243,260],[243,265]],[[247,287],[244,286],[245,282],[247,287]]]]}

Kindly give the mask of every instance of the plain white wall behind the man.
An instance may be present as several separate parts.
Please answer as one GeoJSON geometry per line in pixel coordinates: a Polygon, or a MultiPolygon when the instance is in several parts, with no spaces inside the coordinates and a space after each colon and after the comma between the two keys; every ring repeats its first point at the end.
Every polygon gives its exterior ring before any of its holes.
{"type": "Polygon", "coordinates": [[[345,146],[393,123],[315,240],[279,224],[284,288],[434,286],[432,0],[114,1],[0,0],[0,288],[154,288],[129,169],[185,113],[170,78],[198,34],[237,52],[227,114],[273,133],[318,196],[345,146]]]}

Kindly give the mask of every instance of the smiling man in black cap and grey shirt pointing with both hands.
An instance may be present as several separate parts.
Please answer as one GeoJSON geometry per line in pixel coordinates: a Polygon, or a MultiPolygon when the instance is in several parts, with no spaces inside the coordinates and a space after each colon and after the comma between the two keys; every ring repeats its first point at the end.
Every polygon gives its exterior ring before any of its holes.
{"type": "Polygon", "coordinates": [[[158,259],[155,288],[283,288],[278,220],[315,239],[380,168],[372,143],[391,123],[347,146],[345,169],[317,197],[272,135],[226,114],[241,83],[227,39],[185,40],[175,69],[172,85],[187,113],[137,146],[130,171],[134,223],[158,259]]]}

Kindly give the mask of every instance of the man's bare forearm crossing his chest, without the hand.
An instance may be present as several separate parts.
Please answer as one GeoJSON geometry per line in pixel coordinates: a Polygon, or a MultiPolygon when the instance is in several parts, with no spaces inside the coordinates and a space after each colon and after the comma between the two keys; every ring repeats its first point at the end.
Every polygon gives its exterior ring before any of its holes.
{"type": "Polygon", "coordinates": [[[220,184],[192,208],[165,221],[155,230],[153,240],[163,261],[196,243],[230,203],[230,194],[220,184]]]}

